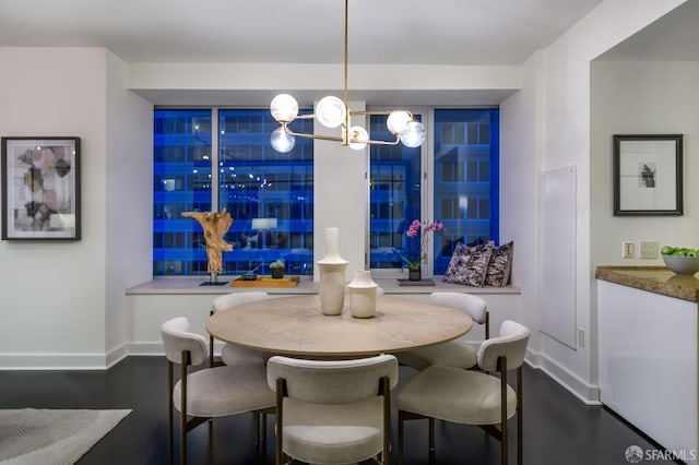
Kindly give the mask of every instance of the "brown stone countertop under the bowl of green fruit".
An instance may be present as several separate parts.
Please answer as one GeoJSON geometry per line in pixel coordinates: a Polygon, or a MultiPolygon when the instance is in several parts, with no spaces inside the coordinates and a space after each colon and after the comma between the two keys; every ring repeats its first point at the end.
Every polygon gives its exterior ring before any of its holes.
{"type": "Polygon", "coordinates": [[[597,279],[699,302],[699,279],[673,273],[665,266],[596,266],[597,279]]]}

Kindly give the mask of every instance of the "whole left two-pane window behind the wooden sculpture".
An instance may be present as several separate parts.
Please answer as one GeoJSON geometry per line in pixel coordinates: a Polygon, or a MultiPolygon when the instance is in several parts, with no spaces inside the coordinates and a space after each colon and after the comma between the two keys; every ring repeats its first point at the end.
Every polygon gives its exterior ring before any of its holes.
{"type": "Polygon", "coordinates": [[[276,126],[266,109],[155,110],[154,275],[206,274],[201,227],[181,213],[212,205],[234,220],[224,274],[269,274],[277,259],[289,274],[312,273],[312,141],[279,154],[269,142],[276,126]]]}

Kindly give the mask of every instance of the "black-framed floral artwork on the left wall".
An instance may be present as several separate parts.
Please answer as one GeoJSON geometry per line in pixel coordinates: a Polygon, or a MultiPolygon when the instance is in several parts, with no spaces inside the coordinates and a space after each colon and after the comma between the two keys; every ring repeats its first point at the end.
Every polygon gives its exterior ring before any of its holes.
{"type": "Polygon", "coordinates": [[[80,138],[2,138],[2,240],[80,240],[80,138]]]}

